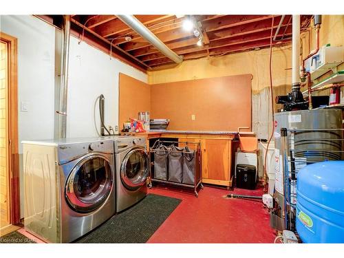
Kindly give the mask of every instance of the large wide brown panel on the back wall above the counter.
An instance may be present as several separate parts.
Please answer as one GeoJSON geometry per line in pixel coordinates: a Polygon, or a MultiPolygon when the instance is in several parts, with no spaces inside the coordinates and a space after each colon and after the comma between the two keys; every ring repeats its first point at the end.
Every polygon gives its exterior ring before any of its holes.
{"type": "Polygon", "coordinates": [[[172,130],[251,128],[251,81],[244,74],[151,85],[151,118],[169,118],[172,130]]]}

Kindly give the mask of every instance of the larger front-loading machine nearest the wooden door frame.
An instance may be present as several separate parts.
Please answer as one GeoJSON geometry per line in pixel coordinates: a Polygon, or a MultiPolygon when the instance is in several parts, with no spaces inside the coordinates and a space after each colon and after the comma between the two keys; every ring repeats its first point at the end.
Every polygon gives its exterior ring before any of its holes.
{"type": "Polygon", "coordinates": [[[24,141],[23,155],[30,233],[69,243],[114,215],[113,140],[24,141]]]}

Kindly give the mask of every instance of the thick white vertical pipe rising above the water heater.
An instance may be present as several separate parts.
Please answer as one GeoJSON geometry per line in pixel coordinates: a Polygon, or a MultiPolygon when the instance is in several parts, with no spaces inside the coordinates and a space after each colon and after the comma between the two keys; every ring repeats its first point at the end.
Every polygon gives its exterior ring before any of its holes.
{"type": "Polygon", "coordinates": [[[300,15],[292,16],[292,87],[300,87],[300,15]]]}

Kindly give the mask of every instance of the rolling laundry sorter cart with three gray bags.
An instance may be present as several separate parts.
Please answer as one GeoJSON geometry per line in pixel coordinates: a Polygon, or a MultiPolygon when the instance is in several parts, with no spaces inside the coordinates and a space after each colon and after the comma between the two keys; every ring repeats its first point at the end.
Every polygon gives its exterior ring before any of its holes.
{"type": "Polygon", "coordinates": [[[200,142],[156,140],[151,153],[151,182],[203,189],[200,142]]]}

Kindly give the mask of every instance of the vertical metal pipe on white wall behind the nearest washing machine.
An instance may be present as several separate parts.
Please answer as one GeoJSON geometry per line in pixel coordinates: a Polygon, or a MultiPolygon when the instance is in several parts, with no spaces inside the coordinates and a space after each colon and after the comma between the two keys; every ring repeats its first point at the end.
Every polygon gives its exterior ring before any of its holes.
{"type": "Polygon", "coordinates": [[[69,36],[70,15],[63,16],[62,28],[62,50],[61,50],[61,79],[58,103],[58,138],[66,138],[67,131],[67,89],[68,89],[68,61],[69,61],[69,36]]]}

